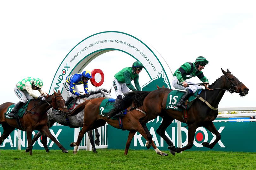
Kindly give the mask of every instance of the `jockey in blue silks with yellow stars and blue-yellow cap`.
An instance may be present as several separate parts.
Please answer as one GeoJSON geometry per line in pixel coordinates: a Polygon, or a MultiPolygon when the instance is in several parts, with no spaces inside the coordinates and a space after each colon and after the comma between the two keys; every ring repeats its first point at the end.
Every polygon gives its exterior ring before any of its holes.
{"type": "Polygon", "coordinates": [[[65,105],[68,106],[69,103],[74,100],[76,96],[84,98],[90,96],[89,90],[88,90],[88,80],[92,78],[92,74],[90,71],[86,70],[83,71],[82,74],[76,73],[73,75],[70,75],[64,79],[63,87],[68,93],[68,99],[65,102],[65,105]],[[76,87],[76,85],[82,85],[85,92],[84,94],[79,94],[80,91],[76,87]]]}

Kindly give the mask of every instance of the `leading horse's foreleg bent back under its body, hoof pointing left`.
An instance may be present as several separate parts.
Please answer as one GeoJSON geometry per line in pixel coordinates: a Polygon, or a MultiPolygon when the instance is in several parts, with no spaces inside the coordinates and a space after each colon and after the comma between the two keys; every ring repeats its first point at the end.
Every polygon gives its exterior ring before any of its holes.
{"type": "Polygon", "coordinates": [[[187,142],[187,145],[183,148],[172,148],[171,150],[173,150],[177,153],[180,153],[183,150],[192,148],[193,143],[194,143],[194,137],[195,137],[196,129],[197,129],[196,124],[188,125],[188,142],[187,142]]]}

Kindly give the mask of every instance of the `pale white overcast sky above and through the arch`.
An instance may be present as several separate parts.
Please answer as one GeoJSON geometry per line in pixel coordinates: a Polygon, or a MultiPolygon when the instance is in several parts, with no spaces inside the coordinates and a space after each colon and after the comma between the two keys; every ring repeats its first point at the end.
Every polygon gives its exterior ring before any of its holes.
{"type": "MultiPolygon", "coordinates": [[[[255,8],[254,1],[233,0],[3,1],[0,103],[18,102],[13,89],[29,76],[42,79],[48,92],[58,66],[76,44],[98,32],[120,31],[150,44],[172,72],[204,56],[209,64],[203,72],[212,84],[222,75],[221,68],[228,68],[249,93],[240,97],[226,92],[219,107],[255,107],[255,8]]],[[[119,51],[103,55],[86,69],[102,69],[102,87],[109,90],[114,74],[135,60],[119,51]],[[103,55],[109,62],[101,62],[103,55]]],[[[142,71],[140,85],[148,81],[142,71]]],[[[94,89],[91,84],[89,88],[94,89]]]]}

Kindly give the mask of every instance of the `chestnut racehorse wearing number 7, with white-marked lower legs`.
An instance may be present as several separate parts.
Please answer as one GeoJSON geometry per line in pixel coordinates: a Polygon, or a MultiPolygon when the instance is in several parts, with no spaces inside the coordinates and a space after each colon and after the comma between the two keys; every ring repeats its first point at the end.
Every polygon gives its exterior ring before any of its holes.
{"type": "MultiPolygon", "coordinates": [[[[73,110],[73,112],[70,113],[70,115],[75,115],[76,113],[81,112],[84,109],[84,122],[82,130],[79,132],[77,142],[72,142],[70,144],[70,146],[75,147],[73,150],[74,154],[77,153],[78,146],[83,138],[83,135],[86,132],[100,126],[104,126],[106,122],[115,128],[121,129],[119,126],[119,120],[108,119],[107,117],[104,117],[104,115],[100,115],[100,104],[102,100],[104,100],[104,98],[87,100],[86,102],[77,106],[73,110]]],[[[127,114],[125,114],[125,116],[122,118],[123,129],[129,131],[128,139],[125,146],[125,155],[127,155],[128,153],[131,144],[131,139],[133,138],[136,132],[139,132],[147,140],[146,133],[144,132],[141,124],[139,123],[139,119],[143,116],[144,113],[142,113],[141,111],[133,110],[131,112],[127,112],[127,114]]],[[[155,152],[158,155],[168,156],[168,154],[162,152],[155,146],[155,143],[154,141],[152,141],[152,138],[151,143],[153,148],[155,149],[155,152]]]]}

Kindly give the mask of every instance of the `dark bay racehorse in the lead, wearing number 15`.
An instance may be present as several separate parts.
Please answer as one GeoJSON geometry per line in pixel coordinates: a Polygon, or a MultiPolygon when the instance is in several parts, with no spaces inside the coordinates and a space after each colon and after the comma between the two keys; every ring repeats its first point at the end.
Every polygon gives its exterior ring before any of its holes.
{"type": "Polygon", "coordinates": [[[108,116],[109,118],[113,117],[124,108],[131,106],[131,104],[134,105],[134,108],[130,110],[143,105],[143,111],[147,114],[146,116],[143,116],[139,122],[149,139],[149,145],[147,145],[148,149],[151,146],[150,142],[152,136],[149,133],[146,123],[155,119],[158,115],[163,118],[163,121],[156,132],[166,141],[168,149],[170,149],[170,152],[173,155],[175,155],[175,152],[179,153],[183,150],[192,148],[196,129],[200,126],[205,127],[216,135],[216,139],[211,144],[208,142],[202,143],[203,146],[212,149],[221,138],[220,133],[216,130],[213,124],[213,120],[215,120],[218,115],[218,104],[225,91],[239,93],[240,96],[247,95],[249,91],[242,82],[230,73],[229,69],[227,69],[227,72],[222,70],[222,73],[224,75],[216,79],[216,81],[208,87],[209,90],[202,90],[199,97],[194,100],[192,106],[187,110],[187,120],[183,118],[182,112],[166,109],[166,101],[169,97],[168,94],[172,91],[167,88],[160,88],[155,91],[134,91],[126,93],[125,97],[115,105],[115,108],[108,114],[108,116]],[[202,100],[199,100],[200,98],[202,100]],[[174,119],[186,123],[188,126],[188,144],[183,148],[175,148],[171,140],[164,134],[165,130],[174,119]]]}

